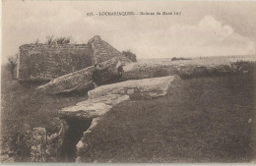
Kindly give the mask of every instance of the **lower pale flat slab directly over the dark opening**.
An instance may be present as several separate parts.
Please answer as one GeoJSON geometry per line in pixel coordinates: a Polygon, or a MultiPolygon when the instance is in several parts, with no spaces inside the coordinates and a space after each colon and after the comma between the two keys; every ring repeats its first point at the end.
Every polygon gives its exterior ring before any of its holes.
{"type": "Polygon", "coordinates": [[[112,106],[128,100],[128,95],[111,94],[77,103],[75,106],[63,108],[59,115],[64,118],[91,119],[108,112],[112,106]]]}

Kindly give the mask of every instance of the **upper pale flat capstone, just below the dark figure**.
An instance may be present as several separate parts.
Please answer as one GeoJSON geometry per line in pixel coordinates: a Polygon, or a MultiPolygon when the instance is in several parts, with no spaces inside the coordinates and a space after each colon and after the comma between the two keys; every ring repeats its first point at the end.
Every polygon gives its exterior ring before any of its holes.
{"type": "Polygon", "coordinates": [[[89,98],[97,98],[109,94],[129,95],[136,98],[155,98],[165,95],[174,76],[112,83],[96,87],[88,92],[89,98]]]}

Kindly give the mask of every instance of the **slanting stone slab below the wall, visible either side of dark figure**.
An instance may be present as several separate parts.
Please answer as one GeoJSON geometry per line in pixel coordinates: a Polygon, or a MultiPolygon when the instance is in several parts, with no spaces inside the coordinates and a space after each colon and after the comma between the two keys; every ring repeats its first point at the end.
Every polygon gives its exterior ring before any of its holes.
{"type": "MultiPolygon", "coordinates": [[[[114,57],[110,60],[100,63],[103,68],[107,69],[108,75],[117,76],[117,68],[120,65],[125,65],[131,61],[124,56],[114,57]]],[[[49,83],[38,86],[37,90],[43,91],[49,94],[65,93],[79,90],[89,90],[94,88],[92,80],[95,67],[91,66],[86,69],[64,75],[56,78],[49,83]]],[[[112,77],[108,77],[109,80],[112,77]]],[[[109,80],[103,80],[104,83],[108,83],[109,80]]]]}

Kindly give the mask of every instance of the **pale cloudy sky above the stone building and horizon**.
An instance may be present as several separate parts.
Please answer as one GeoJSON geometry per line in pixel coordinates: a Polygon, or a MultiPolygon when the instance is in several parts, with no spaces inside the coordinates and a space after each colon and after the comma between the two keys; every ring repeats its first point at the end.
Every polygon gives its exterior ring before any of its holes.
{"type": "Polygon", "coordinates": [[[48,35],[101,38],[138,58],[256,52],[256,2],[3,0],[3,61],[48,35]],[[94,12],[181,12],[180,16],[87,17],[94,12]]]}

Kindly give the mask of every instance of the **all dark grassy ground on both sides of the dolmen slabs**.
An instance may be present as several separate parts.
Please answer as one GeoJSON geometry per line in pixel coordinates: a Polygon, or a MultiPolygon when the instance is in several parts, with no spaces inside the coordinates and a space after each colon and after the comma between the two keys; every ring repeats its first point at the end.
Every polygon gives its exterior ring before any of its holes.
{"type": "MultiPolygon", "coordinates": [[[[84,161],[248,162],[256,138],[253,78],[249,73],[181,80],[166,96],[123,102],[86,139],[84,161]]],[[[5,145],[26,130],[47,129],[58,109],[87,99],[83,93],[45,95],[34,89],[38,84],[12,81],[2,69],[5,145]]]]}

